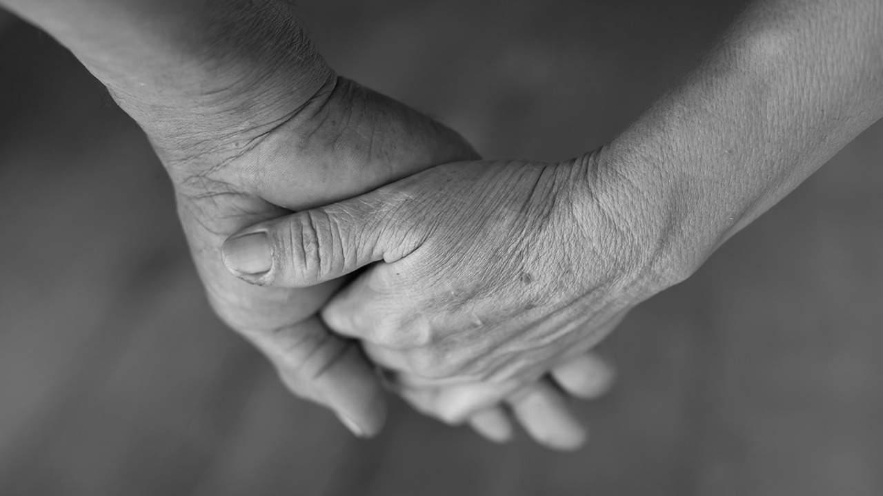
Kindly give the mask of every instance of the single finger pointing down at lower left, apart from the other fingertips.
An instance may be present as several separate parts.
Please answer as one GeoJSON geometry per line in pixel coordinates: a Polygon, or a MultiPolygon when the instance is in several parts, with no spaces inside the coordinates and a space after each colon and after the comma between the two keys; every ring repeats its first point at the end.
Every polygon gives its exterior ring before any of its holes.
{"type": "Polygon", "coordinates": [[[331,334],[318,317],[248,337],[293,393],[327,406],[359,437],[380,432],[386,400],[372,367],[353,342],[331,334]]]}

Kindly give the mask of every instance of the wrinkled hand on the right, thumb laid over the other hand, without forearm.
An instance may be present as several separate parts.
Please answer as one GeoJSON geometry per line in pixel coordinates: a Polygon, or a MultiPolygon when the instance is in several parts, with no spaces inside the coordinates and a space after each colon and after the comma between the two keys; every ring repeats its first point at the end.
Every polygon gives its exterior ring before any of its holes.
{"type": "Polygon", "coordinates": [[[227,242],[225,260],[245,281],[295,288],[373,264],[325,321],[398,372],[421,410],[463,419],[545,395],[531,385],[658,290],[625,187],[595,155],[452,163],[257,224],[227,242]]]}

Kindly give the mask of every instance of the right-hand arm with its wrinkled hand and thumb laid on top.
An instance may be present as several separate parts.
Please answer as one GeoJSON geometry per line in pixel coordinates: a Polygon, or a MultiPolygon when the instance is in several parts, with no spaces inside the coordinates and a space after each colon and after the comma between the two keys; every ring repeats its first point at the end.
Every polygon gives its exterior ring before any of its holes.
{"type": "Polygon", "coordinates": [[[689,277],[883,116],[880,53],[879,0],[756,2],[595,153],[429,169],[245,229],[227,265],[276,287],[369,266],[323,318],[398,371],[419,409],[463,418],[487,396],[452,402],[452,388],[517,397],[689,277]],[[236,266],[247,234],[268,244],[265,273],[236,266]]]}

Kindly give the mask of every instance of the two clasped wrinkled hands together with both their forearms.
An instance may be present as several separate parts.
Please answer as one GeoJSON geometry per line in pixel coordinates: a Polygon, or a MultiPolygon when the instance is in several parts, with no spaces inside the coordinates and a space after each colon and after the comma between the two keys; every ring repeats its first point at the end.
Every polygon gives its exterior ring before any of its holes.
{"type": "Polygon", "coordinates": [[[610,376],[586,351],[883,115],[874,2],[752,5],[608,147],[555,164],[476,162],[337,77],[284,2],[0,4],[147,132],[218,315],[366,436],[379,366],[427,414],[505,440],[508,406],[577,447],[562,394],[610,376]]]}

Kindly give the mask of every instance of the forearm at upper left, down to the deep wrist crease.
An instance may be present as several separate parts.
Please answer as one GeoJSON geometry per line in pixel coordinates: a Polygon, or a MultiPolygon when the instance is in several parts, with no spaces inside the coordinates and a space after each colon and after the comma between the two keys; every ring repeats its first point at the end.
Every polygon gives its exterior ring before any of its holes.
{"type": "Polygon", "coordinates": [[[0,4],[71,49],[154,138],[274,123],[331,77],[291,11],[273,0],[0,4]]]}

